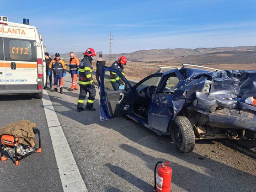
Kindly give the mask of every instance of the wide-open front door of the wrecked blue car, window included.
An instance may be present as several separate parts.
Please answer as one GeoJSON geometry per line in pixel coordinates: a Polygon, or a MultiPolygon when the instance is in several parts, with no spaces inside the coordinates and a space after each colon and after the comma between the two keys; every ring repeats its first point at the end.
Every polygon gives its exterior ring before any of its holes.
{"type": "Polygon", "coordinates": [[[99,98],[101,121],[129,113],[132,101],[131,87],[120,71],[103,67],[99,98]]]}

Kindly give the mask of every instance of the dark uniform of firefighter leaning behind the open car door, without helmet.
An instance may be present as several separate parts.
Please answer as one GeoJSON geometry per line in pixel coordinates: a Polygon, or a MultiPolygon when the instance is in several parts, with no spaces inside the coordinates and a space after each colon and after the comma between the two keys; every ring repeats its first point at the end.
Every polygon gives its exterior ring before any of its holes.
{"type": "MultiPolygon", "coordinates": [[[[124,67],[121,64],[118,64],[117,61],[115,61],[110,67],[119,70],[124,75],[124,67]]],[[[115,91],[119,90],[119,85],[123,85],[123,80],[114,72],[110,72],[109,80],[115,91]]]]}

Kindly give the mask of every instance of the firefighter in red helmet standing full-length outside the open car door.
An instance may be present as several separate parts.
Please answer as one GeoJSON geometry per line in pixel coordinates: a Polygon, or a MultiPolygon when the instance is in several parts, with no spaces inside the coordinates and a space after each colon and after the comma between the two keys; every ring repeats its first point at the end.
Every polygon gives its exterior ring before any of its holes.
{"type": "Polygon", "coordinates": [[[91,61],[95,56],[95,50],[93,48],[87,48],[85,51],[84,58],[80,61],[79,64],[78,84],[80,85],[80,94],[77,101],[77,112],[81,112],[84,110],[96,111],[96,109],[93,108],[93,102],[96,96],[96,89],[91,76],[91,61]],[[84,100],[87,92],[89,92],[89,96],[86,103],[86,107],[84,109],[84,100]]]}

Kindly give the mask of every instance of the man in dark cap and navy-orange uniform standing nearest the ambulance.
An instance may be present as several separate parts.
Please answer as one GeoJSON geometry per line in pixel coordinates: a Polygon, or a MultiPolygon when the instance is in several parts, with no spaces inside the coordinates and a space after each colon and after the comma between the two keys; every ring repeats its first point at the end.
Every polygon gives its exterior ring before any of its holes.
{"type": "Polygon", "coordinates": [[[60,59],[59,53],[55,54],[55,58],[49,64],[48,75],[51,75],[53,71],[54,89],[51,91],[58,91],[58,81],[60,93],[63,93],[63,77],[66,76],[66,65],[63,60],[60,59]]]}

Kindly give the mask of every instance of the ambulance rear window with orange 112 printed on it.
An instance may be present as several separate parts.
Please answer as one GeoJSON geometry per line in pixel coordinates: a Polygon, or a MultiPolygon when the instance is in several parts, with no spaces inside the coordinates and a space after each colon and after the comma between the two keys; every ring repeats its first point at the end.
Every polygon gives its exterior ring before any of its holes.
{"type": "Polygon", "coordinates": [[[34,42],[27,39],[4,38],[5,60],[37,61],[34,42]]]}

